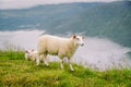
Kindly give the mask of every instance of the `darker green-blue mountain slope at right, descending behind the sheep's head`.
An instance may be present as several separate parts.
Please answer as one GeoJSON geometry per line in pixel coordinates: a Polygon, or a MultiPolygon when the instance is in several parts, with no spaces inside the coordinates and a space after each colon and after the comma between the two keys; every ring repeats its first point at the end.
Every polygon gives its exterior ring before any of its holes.
{"type": "Polygon", "coordinates": [[[106,37],[131,46],[131,2],[114,2],[90,9],[68,26],[75,28],[76,33],[85,32],[87,36],[106,37]]]}

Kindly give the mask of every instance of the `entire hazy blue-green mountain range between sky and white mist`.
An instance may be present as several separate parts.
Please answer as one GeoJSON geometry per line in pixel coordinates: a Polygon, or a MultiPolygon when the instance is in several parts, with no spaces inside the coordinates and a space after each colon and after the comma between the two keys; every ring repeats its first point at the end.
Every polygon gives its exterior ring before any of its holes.
{"type": "Polygon", "coordinates": [[[48,34],[83,33],[131,47],[131,1],[67,3],[0,10],[0,30],[45,29],[48,34]]]}

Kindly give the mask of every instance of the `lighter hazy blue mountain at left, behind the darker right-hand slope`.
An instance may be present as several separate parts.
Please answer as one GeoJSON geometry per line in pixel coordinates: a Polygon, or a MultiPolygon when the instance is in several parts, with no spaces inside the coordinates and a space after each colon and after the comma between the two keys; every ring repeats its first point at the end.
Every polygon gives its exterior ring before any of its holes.
{"type": "Polygon", "coordinates": [[[40,26],[36,28],[52,29],[53,27],[51,26],[53,25],[53,23],[56,23],[56,21],[59,21],[59,23],[61,23],[64,20],[72,18],[73,16],[80,14],[82,11],[85,11],[85,9],[91,8],[94,4],[98,4],[98,3],[69,3],[69,4],[58,4],[58,5],[52,4],[52,5],[39,5],[39,7],[35,7],[31,9],[22,9],[22,10],[21,9],[1,10],[0,26],[2,28],[0,29],[15,30],[15,29],[21,29],[21,27],[19,27],[21,25],[35,25],[38,23],[40,24],[40,26]]]}

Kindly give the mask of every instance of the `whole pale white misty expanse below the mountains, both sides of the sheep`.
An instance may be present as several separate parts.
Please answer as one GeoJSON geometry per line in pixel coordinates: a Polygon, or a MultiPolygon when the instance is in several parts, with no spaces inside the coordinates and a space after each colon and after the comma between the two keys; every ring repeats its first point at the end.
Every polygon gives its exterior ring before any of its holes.
{"type": "MultiPolygon", "coordinates": [[[[0,32],[0,49],[4,50],[12,45],[24,50],[36,50],[37,38],[44,33],[37,29],[0,32]]],[[[122,47],[107,38],[86,37],[84,41],[84,47],[80,47],[72,58],[74,63],[100,71],[131,67],[131,60],[127,55],[131,48],[122,47]]],[[[50,57],[50,61],[59,61],[59,59],[50,57]]]]}

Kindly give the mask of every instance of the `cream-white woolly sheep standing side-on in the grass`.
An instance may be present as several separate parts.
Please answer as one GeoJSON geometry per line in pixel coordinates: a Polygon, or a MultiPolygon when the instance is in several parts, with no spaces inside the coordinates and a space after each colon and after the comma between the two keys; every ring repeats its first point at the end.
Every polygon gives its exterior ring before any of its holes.
{"type": "MultiPolygon", "coordinates": [[[[61,38],[50,35],[39,37],[37,45],[37,65],[39,65],[40,58],[46,59],[47,54],[52,54],[58,55],[61,59],[61,69],[63,69],[63,58],[67,57],[70,63],[70,70],[74,71],[71,64],[71,57],[74,54],[79,46],[84,46],[83,39],[83,36],[75,35],[71,38],[61,38]]],[[[46,60],[44,60],[44,62],[48,65],[46,60]]]]}

